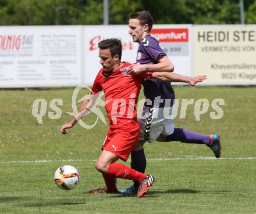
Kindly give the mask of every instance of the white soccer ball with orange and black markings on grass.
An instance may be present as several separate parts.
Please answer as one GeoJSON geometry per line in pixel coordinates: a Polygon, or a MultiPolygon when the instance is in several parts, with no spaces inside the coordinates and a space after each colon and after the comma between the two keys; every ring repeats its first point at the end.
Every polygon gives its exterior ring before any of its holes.
{"type": "Polygon", "coordinates": [[[62,190],[72,190],[77,186],[79,179],[79,172],[74,166],[61,166],[54,174],[55,183],[62,190]]]}

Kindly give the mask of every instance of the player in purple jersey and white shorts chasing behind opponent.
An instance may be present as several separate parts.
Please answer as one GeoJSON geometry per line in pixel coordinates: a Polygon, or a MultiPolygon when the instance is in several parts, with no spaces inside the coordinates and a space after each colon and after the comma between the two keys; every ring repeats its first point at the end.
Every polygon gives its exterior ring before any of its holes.
{"type": "MultiPolygon", "coordinates": [[[[151,37],[153,19],[147,11],[137,12],[130,15],[129,34],[133,42],[140,44],[137,52],[137,63],[131,66],[129,74],[140,74],[147,71],[170,71],[170,63],[166,53],[157,39],[151,37]]],[[[172,67],[173,70],[173,67],[172,67]]],[[[175,93],[168,82],[157,79],[144,79],[144,95],[147,100],[143,108],[143,118],[138,118],[140,124],[139,142],[131,152],[131,168],[145,172],[146,158],[143,145],[146,141],[206,144],[214,152],[215,157],[221,157],[221,136],[201,135],[182,128],[174,128],[173,119],[164,117],[164,110],[172,113],[175,93]],[[170,101],[170,99],[172,101],[170,101]],[[166,109],[167,108],[167,109],[166,109]]],[[[120,190],[122,194],[136,194],[138,184],[120,190]]]]}

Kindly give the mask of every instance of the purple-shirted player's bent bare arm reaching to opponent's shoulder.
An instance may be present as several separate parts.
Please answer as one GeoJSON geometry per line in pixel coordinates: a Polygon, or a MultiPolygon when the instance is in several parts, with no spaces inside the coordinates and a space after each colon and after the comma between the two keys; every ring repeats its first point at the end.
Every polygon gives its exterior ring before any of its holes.
{"type": "Polygon", "coordinates": [[[174,66],[167,56],[161,56],[157,64],[132,64],[127,74],[137,75],[142,72],[173,72],[174,66]]]}

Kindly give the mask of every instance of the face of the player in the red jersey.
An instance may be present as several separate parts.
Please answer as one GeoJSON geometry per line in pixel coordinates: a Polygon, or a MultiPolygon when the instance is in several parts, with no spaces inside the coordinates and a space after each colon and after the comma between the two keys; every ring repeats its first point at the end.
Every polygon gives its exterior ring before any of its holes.
{"type": "Polygon", "coordinates": [[[112,58],[109,49],[99,49],[99,63],[101,63],[102,67],[104,68],[104,71],[109,72],[114,70],[114,66],[116,65],[116,56],[112,58]]]}

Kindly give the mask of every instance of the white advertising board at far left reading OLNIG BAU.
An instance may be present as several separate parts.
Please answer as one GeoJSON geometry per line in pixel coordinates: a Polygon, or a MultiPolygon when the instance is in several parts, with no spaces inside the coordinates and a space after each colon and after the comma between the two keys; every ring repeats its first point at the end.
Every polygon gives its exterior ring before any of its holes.
{"type": "Polygon", "coordinates": [[[81,83],[81,26],[0,28],[0,88],[81,83]]]}

